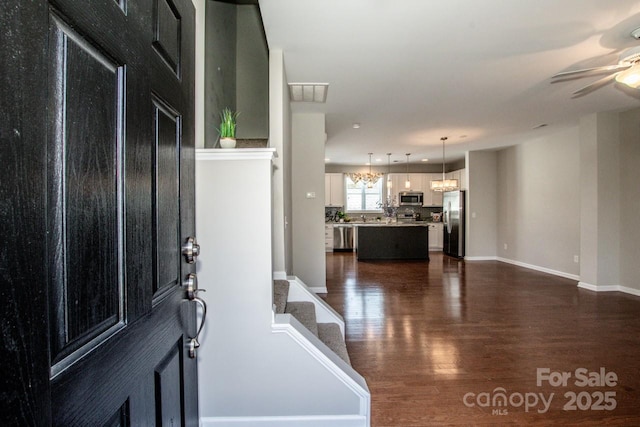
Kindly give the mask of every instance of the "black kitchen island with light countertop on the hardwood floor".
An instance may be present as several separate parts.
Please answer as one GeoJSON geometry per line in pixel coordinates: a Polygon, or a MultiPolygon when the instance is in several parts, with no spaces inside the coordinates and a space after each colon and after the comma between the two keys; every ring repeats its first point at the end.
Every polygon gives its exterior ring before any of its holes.
{"type": "Polygon", "coordinates": [[[426,223],[354,224],[358,260],[429,259],[426,223]]]}

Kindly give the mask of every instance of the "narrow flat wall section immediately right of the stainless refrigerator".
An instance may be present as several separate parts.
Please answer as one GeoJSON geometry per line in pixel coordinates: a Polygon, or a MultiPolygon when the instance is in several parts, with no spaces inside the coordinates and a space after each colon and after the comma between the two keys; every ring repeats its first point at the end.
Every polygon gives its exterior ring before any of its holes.
{"type": "Polygon", "coordinates": [[[468,189],[465,258],[495,257],[498,206],[497,154],[495,151],[470,151],[466,154],[466,164],[468,189]]]}

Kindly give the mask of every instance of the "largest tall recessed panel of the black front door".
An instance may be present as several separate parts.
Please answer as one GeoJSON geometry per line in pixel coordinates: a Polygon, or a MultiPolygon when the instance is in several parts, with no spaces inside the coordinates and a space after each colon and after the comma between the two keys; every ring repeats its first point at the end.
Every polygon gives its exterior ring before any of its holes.
{"type": "Polygon", "coordinates": [[[97,337],[105,339],[123,325],[124,73],[57,16],[50,16],[50,26],[48,248],[55,254],[49,285],[55,374],[99,345],[97,337]]]}

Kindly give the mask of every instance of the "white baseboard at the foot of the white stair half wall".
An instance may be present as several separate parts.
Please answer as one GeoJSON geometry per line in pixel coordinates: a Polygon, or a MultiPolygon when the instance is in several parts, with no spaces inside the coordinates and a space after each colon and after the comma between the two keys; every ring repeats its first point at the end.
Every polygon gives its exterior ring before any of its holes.
{"type": "Polygon", "coordinates": [[[200,427],[365,427],[360,415],[292,415],[288,417],[203,417],[200,427]]]}

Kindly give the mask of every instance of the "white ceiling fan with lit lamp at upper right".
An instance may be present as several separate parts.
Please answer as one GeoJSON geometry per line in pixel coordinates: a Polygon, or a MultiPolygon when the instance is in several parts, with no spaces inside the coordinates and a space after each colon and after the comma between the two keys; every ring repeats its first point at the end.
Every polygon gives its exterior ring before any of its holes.
{"type": "MultiPolygon", "coordinates": [[[[640,40],[640,28],[631,32],[631,36],[640,40]]],[[[632,47],[620,54],[617,64],[604,65],[602,67],[584,68],[581,70],[563,71],[555,74],[552,79],[555,82],[574,78],[588,77],[596,74],[607,74],[587,86],[573,92],[573,97],[583,96],[601,88],[615,80],[634,89],[640,88],[640,46],[632,47]]]]}

